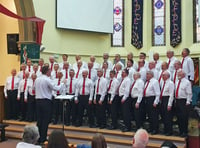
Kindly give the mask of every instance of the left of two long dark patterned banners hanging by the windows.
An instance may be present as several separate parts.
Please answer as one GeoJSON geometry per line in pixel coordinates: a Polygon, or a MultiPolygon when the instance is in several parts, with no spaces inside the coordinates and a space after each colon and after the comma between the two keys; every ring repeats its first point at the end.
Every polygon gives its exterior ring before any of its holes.
{"type": "Polygon", "coordinates": [[[142,48],[143,0],[132,0],[132,37],[131,44],[137,49],[142,48]]]}

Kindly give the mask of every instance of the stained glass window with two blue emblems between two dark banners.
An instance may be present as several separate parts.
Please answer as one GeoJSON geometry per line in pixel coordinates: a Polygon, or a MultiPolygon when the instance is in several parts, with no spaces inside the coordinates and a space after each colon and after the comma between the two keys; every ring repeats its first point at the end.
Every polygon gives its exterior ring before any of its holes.
{"type": "Polygon", "coordinates": [[[165,45],[165,0],[153,0],[153,46],[165,45]]]}

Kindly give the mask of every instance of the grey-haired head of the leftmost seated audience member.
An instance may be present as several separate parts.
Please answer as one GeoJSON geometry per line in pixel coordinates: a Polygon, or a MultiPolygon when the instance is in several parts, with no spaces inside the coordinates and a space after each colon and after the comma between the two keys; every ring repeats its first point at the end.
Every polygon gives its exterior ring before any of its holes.
{"type": "Polygon", "coordinates": [[[26,143],[36,144],[39,139],[39,131],[36,125],[26,125],[22,140],[26,143]]]}

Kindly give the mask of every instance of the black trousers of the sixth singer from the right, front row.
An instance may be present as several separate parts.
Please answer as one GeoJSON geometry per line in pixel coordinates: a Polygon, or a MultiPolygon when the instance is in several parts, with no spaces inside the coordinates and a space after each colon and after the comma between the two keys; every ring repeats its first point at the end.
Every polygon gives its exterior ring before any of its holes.
{"type": "Polygon", "coordinates": [[[116,95],[111,104],[111,119],[112,119],[112,126],[117,128],[118,119],[120,116],[120,108],[121,108],[121,98],[116,95]]]}

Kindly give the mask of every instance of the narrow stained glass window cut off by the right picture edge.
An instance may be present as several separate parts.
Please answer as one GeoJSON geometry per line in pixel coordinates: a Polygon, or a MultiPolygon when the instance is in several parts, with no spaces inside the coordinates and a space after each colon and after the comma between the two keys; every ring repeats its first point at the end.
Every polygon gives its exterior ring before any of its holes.
{"type": "Polygon", "coordinates": [[[193,0],[194,7],[194,42],[200,42],[200,0],[193,0]]]}

